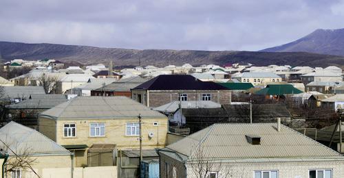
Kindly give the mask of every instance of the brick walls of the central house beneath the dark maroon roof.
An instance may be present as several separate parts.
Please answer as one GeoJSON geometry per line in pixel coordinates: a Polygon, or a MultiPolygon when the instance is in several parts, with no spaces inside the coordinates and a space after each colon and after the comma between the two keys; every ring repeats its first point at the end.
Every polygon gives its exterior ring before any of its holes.
{"type": "MultiPolygon", "coordinates": [[[[137,94],[142,94],[142,90],[132,90],[132,96],[138,96],[137,94]]],[[[188,94],[188,101],[202,100],[202,94],[211,94],[211,101],[220,104],[230,104],[231,94],[230,90],[171,90],[171,91],[149,91],[147,99],[144,99],[144,103],[148,103],[148,107],[158,107],[166,103],[171,103],[172,101],[178,101],[179,94],[188,94]]],[[[134,99],[135,97],[133,97],[134,99]]],[[[137,99],[135,99],[137,101],[137,99]]]]}

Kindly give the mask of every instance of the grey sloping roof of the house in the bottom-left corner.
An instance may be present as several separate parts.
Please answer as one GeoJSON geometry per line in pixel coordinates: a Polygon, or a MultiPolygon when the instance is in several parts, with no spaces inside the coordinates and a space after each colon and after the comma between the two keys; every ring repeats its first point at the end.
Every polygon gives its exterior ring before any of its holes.
{"type": "MultiPolygon", "coordinates": [[[[67,149],[39,133],[39,131],[13,121],[1,127],[0,139],[9,144],[10,149],[16,151],[17,155],[23,154],[23,151],[30,155],[71,154],[67,149]]],[[[2,142],[0,142],[0,145],[5,147],[2,142]]],[[[8,151],[8,154],[14,155],[12,151],[8,151]]]]}

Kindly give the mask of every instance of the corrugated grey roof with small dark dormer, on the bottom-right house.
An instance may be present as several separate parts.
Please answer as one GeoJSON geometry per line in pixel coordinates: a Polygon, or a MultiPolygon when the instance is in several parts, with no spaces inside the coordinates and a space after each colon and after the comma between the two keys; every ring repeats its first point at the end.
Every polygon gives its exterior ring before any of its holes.
{"type": "Polygon", "coordinates": [[[303,136],[284,125],[277,131],[277,123],[215,124],[193,133],[167,148],[197,158],[195,151],[202,150],[204,158],[299,158],[343,156],[323,144],[303,136]],[[260,136],[259,145],[250,144],[246,135],[260,136]]]}

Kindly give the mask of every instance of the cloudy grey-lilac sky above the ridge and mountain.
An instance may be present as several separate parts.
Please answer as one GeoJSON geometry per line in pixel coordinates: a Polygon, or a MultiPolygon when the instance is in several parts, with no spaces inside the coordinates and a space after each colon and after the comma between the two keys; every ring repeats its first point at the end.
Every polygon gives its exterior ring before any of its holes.
{"type": "Polygon", "coordinates": [[[344,28],[344,0],[1,0],[0,41],[257,51],[344,28]]]}

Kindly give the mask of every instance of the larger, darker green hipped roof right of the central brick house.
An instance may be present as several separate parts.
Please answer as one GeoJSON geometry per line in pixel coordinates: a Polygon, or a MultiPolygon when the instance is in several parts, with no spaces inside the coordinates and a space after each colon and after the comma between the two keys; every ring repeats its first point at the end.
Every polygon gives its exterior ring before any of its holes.
{"type": "Polygon", "coordinates": [[[294,88],[294,86],[290,84],[274,84],[268,85],[266,88],[263,88],[255,94],[264,94],[264,95],[283,95],[283,94],[299,94],[302,91],[294,88]]]}

